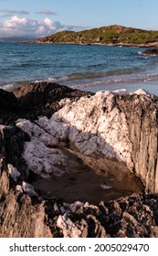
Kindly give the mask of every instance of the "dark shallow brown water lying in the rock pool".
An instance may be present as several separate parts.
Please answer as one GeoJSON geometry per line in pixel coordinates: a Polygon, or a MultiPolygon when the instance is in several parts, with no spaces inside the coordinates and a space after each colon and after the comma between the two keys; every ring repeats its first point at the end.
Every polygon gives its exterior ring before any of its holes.
{"type": "MultiPolygon", "coordinates": [[[[118,181],[114,176],[99,176],[90,166],[83,163],[77,155],[64,149],[68,155],[68,167],[62,176],[48,178],[36,176],[32,185],[43,198],[60,198],[73,203],[76,200],[99,204],[129,196],[132,192],[142,192],[142,184],[134,176],[126,176],[118,181]]],[[[32,179],[32,178],[31,178],[32,179]]]]}

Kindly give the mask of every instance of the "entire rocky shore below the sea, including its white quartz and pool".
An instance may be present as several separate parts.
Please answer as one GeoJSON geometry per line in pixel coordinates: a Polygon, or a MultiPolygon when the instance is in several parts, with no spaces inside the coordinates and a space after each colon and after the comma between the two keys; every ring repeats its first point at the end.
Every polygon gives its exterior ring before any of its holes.
{"type": "Polygon", "coordinates": [[[158,237],[158,97],[0,90],[0,237],[158,237]]]}

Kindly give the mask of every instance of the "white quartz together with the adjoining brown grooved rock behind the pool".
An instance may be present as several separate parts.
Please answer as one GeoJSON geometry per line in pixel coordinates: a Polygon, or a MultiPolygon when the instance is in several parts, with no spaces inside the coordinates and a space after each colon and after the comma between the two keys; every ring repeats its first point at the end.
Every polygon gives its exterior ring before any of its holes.
{"type": "Polygon", "coordinates": [[[156,101],[143,90],[99,91],[78,101],[62,100],[64,107],[50,119],[18,120],[16,126],[31,137],[23,155],[29,169],[62,175],[67,156],[55,147],[67,142],[98,174],[118,180],[134,175],[147,192],[158,191],[156,101]]]}

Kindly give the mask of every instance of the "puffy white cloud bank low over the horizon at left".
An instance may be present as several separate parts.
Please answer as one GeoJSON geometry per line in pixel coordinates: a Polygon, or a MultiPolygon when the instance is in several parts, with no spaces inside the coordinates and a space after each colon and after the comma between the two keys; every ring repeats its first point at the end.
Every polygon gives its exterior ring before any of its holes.
{"type": "Polygon", "coordinates": [[[12,16],[10,19],[0,22],[0,35],[44,37],[61,30],[80,30],[82,28],[65,26],[58,21],[52,21],[48,17],[39,21],[21,16],[12,16]]]}

